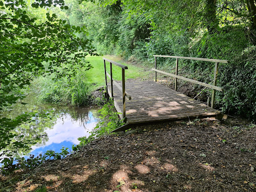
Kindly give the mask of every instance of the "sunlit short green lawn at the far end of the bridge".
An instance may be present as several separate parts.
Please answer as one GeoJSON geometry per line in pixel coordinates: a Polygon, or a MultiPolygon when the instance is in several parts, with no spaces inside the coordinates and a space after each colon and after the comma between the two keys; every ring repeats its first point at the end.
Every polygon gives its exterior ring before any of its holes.
{"type": "MultiPolygon", "coordinates": [[[[122,65],[125,65],[128,67],[128,69],[125,70],[125,80],[127,79],[143,79],[146,78],[147,72],[144,71],[143,68],[138,68],[133,65],[129,65],[127,63],[119,62],[119,59],[117,59],[114,56],[87,56],[86,60],[90,62],[90,64],[93,66],[92,69],[89,71],[86,71],[86,80],[88,83],[96,83],[95,87],[101,87],[105,85],[105,75],[104,75],[104,62],[102,57],[111,59],[113,61],[116,61],[122,65]]],[[[113,79],[114,80],[121,80],[121,68],[112,65],[113,70],[113,79]]],[[[110,63],[106,61],[106,71],[110,74],[110,63]]],[[[108,82],[110,82],[109,77],[107,77],[108,82]]]]}

